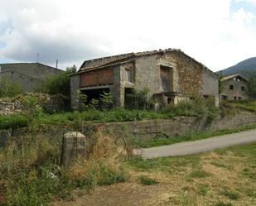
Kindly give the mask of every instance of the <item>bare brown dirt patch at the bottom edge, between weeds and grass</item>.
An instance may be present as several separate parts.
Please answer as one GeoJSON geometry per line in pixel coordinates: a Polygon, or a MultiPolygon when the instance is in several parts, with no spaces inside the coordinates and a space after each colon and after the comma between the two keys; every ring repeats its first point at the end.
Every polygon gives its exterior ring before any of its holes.
{"type": "Polygon", "coordinates": [[[167,190],[166,185],[142,186],[135,183],[97,187],[93,194],[75,194],[75,200],[55,206],[155,206],[167,190]]]}

